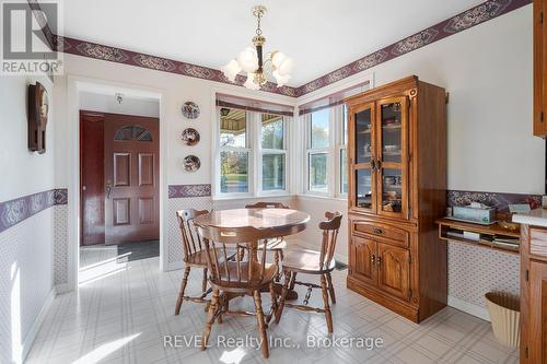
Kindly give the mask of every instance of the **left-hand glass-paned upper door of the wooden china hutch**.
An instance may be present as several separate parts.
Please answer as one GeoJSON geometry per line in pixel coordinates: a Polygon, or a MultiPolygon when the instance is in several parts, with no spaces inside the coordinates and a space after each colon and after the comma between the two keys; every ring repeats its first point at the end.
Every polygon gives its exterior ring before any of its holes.
{"type": "Polygon", "coordinates": [[[375,178],[375,113],[374,104],[350,110],[351,204],[358,209],[376,211],[375,178]]]}

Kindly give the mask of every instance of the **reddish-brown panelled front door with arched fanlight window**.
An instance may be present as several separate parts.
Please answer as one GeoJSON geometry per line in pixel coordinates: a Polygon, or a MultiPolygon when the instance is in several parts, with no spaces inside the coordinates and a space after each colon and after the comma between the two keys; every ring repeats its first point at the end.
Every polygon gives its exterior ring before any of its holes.
{"type": "Polygon", "coordinates": [[[105,242],[160,236],[159,120],[105,114],[105,242]]]}

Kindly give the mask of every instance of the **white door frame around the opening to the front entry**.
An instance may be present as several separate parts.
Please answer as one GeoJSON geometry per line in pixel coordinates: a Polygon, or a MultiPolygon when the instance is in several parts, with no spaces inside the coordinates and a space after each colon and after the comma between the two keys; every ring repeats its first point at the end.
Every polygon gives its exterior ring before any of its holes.
{"type": "MultiPolygon", "coordinates": [[[[139,94],[158,99],[160,104],[160,161],[167,156],[167,122],[166,119],[166,92],[161,89],[112,82],[107,80],[91,79],[78,75],[67,77],[67,133],[68,148],[72,151],[80,150],[80,92],[103,89],[105,91],[124,92],[125,94],[139,94]]],[[[62,105],[60,105],[62,106],[62,105]]],[[[167,224],[165,215],[167,209],[167,163],[160,163],[160,269],[167,271],[167,224]]],[[[80,153],[70,153],[68,156],[68,251],[67,251],[67,283],[57,286],[58,293],[70,292],[78,289],[80,267],[80,153]]]]}

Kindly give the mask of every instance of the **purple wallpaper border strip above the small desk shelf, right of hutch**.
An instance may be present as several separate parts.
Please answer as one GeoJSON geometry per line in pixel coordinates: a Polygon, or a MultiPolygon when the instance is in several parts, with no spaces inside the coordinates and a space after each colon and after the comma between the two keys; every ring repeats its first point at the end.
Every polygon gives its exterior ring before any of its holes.
{"type": "Polygon", "coordinates": [[[466,206],[470,202],[481,202],[496,208],[498,212],[509,212],[510,203],[528,203],[532,209],[542,207],[542,195],[499,193],[449,190],[446,203],[449,207],[466,206]]]}

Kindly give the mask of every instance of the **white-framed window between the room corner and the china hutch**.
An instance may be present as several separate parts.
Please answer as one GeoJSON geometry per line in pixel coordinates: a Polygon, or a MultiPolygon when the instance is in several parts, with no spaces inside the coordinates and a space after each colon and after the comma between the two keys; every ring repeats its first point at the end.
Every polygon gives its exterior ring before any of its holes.
{"type": "Polygon", "coordinates": [[[330,197],[347,195],[346,119],[344,106],[326,107],[304,117],[306,193],[330,197]]]}

